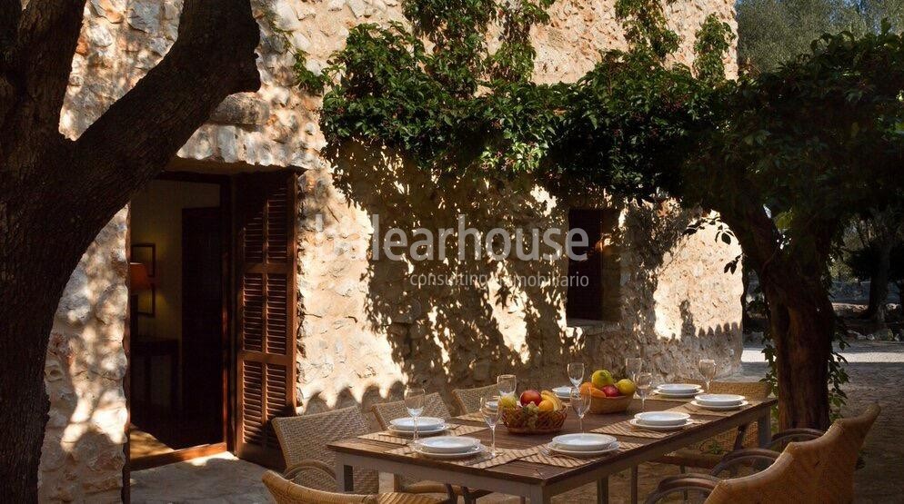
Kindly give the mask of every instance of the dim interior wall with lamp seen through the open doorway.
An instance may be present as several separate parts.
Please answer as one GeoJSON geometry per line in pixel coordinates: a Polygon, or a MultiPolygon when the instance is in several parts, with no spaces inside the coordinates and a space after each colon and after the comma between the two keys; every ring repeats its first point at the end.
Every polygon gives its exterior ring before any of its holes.
{"type": "MultiPolygon", "coordinates": [[[[131,241],[156,246],[155,316],[136,318],[133,339],[182,340],[182,211],[219,204],[220,187],[215,183],[156,180],[133,198],[131,241]]],[[[169,385],[156,385],[153,401],[168,401],[169,385]]]]}

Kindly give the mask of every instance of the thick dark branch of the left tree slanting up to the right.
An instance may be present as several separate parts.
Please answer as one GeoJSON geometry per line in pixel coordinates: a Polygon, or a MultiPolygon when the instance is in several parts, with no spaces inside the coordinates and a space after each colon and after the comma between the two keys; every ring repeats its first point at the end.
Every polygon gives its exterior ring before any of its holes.
{"type": "Polygon", "coordinates": [[[259,41],[248,0],[186,0],[166,57],[75,142],[77,173],[67,179],[105,209],[103,222],[166,166],[226,96],[260,87],[259,41]]]}

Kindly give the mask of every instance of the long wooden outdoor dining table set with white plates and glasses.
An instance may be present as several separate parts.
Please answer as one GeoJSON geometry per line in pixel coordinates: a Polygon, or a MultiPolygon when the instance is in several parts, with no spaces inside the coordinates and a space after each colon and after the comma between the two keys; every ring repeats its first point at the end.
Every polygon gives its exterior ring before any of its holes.
{"type": "MultiPolygon", "coordinates": [[[[458,465],[444,460],[398,453],[398,444],[380,440],[352,438],[339,440],[328,445],[336,455],[336,479],[338,490],[354,491],[352,474],[355,469],[373,469],[379,472],[403,475],[411,479],[438,481],[460,485],[469,489],[482,489],[527,498],[531,503],[546,503],[552,496],[577,489],[588,483],[597,483],[598,502],[608,502],[608,477],[625,469],[632,469],[637,477],[638,465],[650,462],[689,445],[699,443],[728,430],[738,430],[742,426],[755,423],[758,443],[768,445],[771,439],[770,411],[776,400],[765,400],[745,409],[721,415],[691,415],[693,420],[701,420],[683,430],[669,433],[662,438],[615,435],[619,441],[629,443],[628,450],[619,450],[601,460],[595,460],[580,467],[563,468],[545,463],[513,460],[502,465],[479,469],[458,465]],[[393,453],[395,451],[395,453],[393,453]]],[[[669,410],[685,404],[678,400],[647,400],[646,410],[669,410]]],[[[608,428],[625,420],[630,420],[640,410],[640,400],[633,400],[628,411],[610,414],[588,414],[584,417],[584,430],[589,432],[608,428]]],[[[483,422],[470,420],[473,417],[457,417],[450,420],[459,425],[479,426],[483,422]]],[[[486,424],[483,424],[486,426],[486,424]]],[[[515,435],[509,434],[500,422],[497,427],[497,448],[524,450],[548,443],[554,436],[578,432],[578,418],[569,411],[563,429],[555,434],[515,435]]],[[[490,444],[490,430],[479,430],[468,436],[490,444]]],[[[632,485],[631,502],[638,499],[637,485],[632,485]]]]}

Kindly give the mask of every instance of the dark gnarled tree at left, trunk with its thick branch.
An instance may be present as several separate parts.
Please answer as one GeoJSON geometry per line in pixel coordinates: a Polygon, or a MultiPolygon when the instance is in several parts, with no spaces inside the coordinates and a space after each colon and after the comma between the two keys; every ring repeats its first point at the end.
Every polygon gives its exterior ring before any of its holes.
{"type": "Polygon", "coordinates": [[[85,1],[0,0],[0,501],[37,500],[45,352],[87,245],[217,104],[259,85],[248,0],[186,0],[166,57],[75,141],[59,116],[85,1]]]}

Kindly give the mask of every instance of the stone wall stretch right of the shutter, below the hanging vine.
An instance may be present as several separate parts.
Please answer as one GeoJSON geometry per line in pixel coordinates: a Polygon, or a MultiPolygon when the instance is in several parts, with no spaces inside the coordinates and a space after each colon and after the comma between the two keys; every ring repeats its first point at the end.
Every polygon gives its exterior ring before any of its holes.
{"type": "MultiPolygon", "coordinates": [[[[449,187],[359,147],[343,152],[334,171],[307,171],[300,184],[301,410],[367,406],[397,398],[406,384],[449,398],[453,388],[484,385],[503,372],[515,372],[524,386],[552,387],[568,382],[565,367],[576,360],[621,372],[626,357],[644,356],[658,380],[696,377],[704,356],[717,359],[722,373],[738,367],[740,272],[722,270],[739,247],[716,240],[714,230],[683,236],[696,214],[674,204],[552,195],[529,180],[449,187]],[[392,227],[409,237],[418,227],[435,234],[457,228],[459,215],[481,232],[542,234],[568,230],[569,205],[620,215],[609,240],[621,260],[618,321],[566,321],[568,288],[554,279],[567,275],[567,258],[441,262],[406,252],[403,261],[385,253],[375,259],[375,215],[380,240],[392,227]],[[475,281],[423,285],[430,275],[475,281]],[[548,282],[517,283],[538,276],[548,282]]],[[[447,257],[455,258],[455,237],[448,246],[447,257]]]]}

